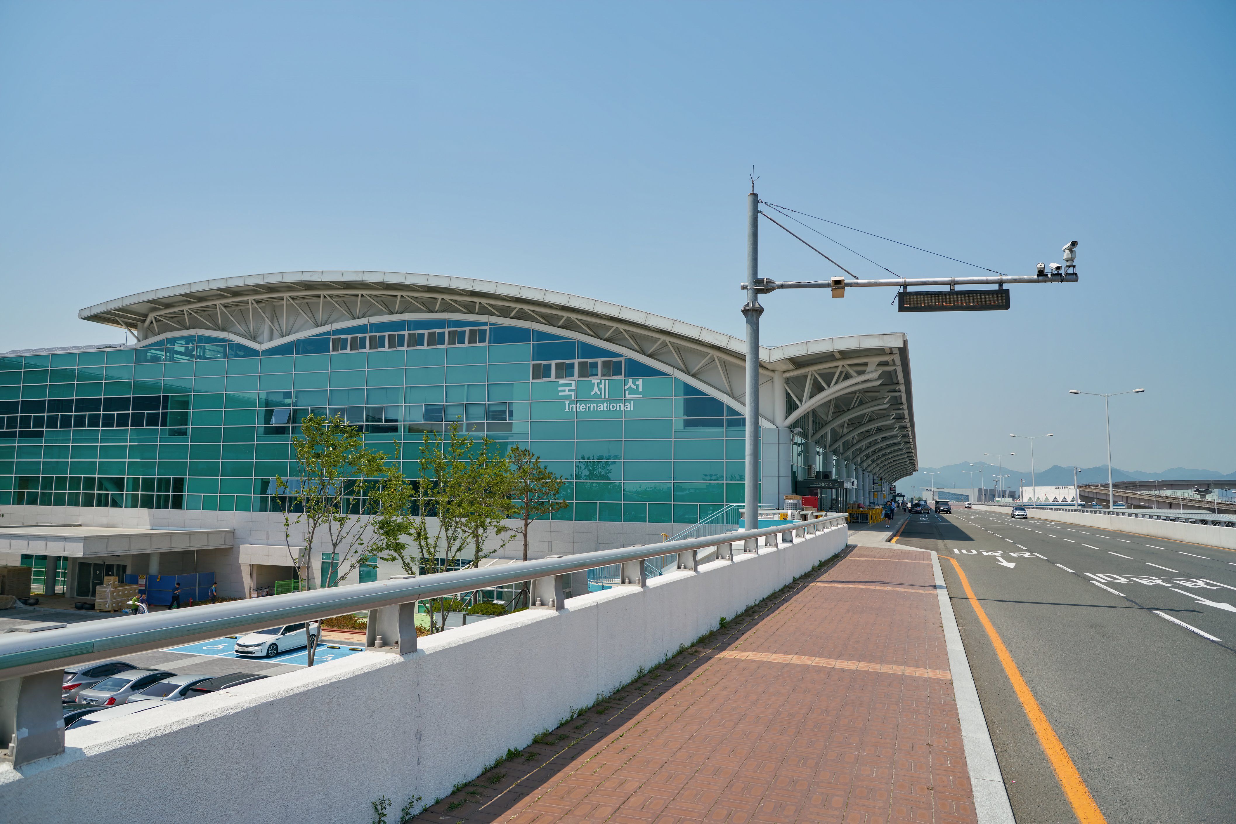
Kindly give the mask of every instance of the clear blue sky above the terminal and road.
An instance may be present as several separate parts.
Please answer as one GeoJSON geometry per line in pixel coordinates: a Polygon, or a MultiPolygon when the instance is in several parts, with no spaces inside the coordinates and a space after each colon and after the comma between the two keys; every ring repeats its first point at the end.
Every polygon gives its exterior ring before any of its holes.
{"type": "MultiPolygon", "coordinates": [[[[1231,472],[1234,35],[1220,2],[0,2],[0,350],[120,342],[78,309],[289,269],[740,335],[755,164],[766,200],[1004,272],[1080,241],[1080,283],[1007,313],[765,300],[766,343],[910,335],[921,463],[1015,431],[1054,432],[1038,465],[1104,463],[1101,400],[1067,390],[1146,387],[1114,400],[1114,462],[1231,472]]],[[[761,231],[766,277],[831,274],[761,231]]]]}

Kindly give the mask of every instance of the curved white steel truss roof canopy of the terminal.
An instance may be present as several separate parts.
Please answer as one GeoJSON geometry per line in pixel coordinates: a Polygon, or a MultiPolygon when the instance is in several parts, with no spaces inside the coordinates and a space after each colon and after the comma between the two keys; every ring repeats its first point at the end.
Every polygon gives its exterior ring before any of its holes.
{"type": "MultiPolygon", "coordinates": [[[[83,309],[137,341],[201,331],[258,348],[409,314],[496,317],[587,338],[688,378],[745,411],[744,341],[618,304],[531,287],[403,272],[276,272],[187,283],[83,309]]],[[[801,430],[885,479],[917,468],[910,353],[902,334],[760,347],[765,426],[801,430]],[[784,389],[784,403],[777,403],[784,389]],[[771,401],[771,403],[769,403],[771,401]]]]}

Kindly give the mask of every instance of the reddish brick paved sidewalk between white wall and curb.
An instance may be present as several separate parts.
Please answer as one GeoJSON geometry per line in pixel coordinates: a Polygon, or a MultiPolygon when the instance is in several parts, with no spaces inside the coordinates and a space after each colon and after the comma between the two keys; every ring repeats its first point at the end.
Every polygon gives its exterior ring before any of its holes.
{"type": "Polygon", "coordinates": [[[931,556],[860,546],[417,818],[975,822],[931,556]]]}

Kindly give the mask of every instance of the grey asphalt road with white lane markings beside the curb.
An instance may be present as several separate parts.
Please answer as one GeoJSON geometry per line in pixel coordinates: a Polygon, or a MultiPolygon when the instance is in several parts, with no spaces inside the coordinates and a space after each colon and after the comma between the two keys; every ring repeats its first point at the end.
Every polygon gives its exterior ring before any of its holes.
{"type": "Polygon", "coordinates": [[[1236,552],[965,509],[897,542],[941,555],[1020,824],[1077,819],[947,558],[1107,822],[1236,822],[1236,552]]]}

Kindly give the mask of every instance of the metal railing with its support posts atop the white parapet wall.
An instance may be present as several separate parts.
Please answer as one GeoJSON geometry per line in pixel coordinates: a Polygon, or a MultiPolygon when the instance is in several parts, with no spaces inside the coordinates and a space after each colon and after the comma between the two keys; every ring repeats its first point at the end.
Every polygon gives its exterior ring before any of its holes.
{"type": "Polygon", "coordinates": [[[792,544],[795,537],[844,525],[844,515],[827,515],[664,544],[417,577],[396,576],[373,583],[122,615],[46,631],[9,633],[0,636],[0,757],[20,766],[64,751],[61,694],[67,666],[363,610],[370,613],[366,646],[393,647],[405,654],[417,649],[418,600],[530,582],[530,608],[561,609],[565,574],[616,566],[619,586],[643,587],[649,577],[645,568],[649,558],[677,555],[677,570],[695,571],[701,550],[716,547],[716,560],[732,561],[735,544],[739,552],[756,553],[761,544],[776,547],[792,544]]]}

